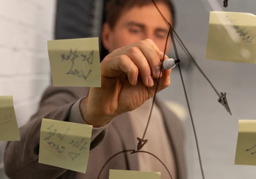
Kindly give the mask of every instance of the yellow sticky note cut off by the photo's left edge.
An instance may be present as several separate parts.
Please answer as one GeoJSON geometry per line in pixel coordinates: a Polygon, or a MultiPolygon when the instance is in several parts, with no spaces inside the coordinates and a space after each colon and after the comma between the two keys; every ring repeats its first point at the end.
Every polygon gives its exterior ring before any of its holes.
{"type": "Polygon", "coordinates": [[[20,140],[12,96],[0,96],[0,141],[20,140]]]}

